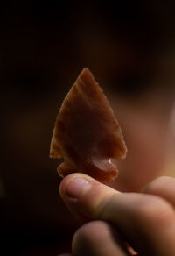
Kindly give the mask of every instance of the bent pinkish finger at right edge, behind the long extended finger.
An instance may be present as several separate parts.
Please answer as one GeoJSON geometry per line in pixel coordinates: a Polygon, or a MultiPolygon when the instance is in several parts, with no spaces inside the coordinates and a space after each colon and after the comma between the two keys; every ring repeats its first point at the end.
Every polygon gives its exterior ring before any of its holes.
{"type": "Polygon", "coordinates": [[[175,207],[175,178],[158,177],[144,189],[144,193],[161,196],[175,207]]]}

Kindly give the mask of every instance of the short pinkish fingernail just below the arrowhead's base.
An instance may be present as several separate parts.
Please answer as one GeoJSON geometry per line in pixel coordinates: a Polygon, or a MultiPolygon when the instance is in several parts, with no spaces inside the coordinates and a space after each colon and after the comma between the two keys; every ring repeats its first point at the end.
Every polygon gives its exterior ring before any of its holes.
{"type": "Polygon", "coordinates": [[[82,192],[90,187],[90,181],[82,178],[75,178],[66,187],[66,196],[78,198],[82,192]]]}

